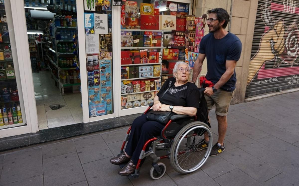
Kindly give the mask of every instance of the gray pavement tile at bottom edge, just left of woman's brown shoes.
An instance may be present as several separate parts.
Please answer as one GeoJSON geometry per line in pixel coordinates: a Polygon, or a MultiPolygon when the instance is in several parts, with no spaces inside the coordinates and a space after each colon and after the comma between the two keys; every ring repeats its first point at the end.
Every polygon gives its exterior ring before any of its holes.
{"type": "Polygon", "coordinates": [[[110,158],[97,160],[83,164],[83,170],[89,186],[98,185],[123,185],[128,186],[132,183],[126,176],[118,175],[120,167],[110,163],[110,158]]]}

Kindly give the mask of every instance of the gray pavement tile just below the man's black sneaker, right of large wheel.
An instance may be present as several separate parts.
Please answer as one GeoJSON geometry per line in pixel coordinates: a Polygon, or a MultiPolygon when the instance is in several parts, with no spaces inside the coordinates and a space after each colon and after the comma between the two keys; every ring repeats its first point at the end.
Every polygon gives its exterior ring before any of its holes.
{"type": "Polygon", "coordinates": [[[208,160],[202,165],[201,169],[211,178],[216,178],[229,171],[234,170],[236,167],[230,162],[224,160],[220,156],[210,156],[208,160]]]}

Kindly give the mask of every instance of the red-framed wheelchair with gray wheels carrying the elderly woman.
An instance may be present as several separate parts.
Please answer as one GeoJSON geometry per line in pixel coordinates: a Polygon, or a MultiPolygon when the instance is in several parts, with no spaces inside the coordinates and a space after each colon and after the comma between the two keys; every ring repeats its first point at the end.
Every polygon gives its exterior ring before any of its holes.
{"type": "MultiPolygon", "coordinates": [[[[204,96],[202,96],[203,91],[204,89],[200,89],[200,99],[205,101],[204,96]]],[[[152,105],[153,103],[149,104],[149,107],[143,114],[149,112],[152,105]]],[[[194,117],[188,115],[173,115],[162,129],[161,135],[152,137],[144,144],[135,172],[128,177],[139,177],[141,160],[146,157],[151,157],[153,160],[149,174],[154,180],[161,178],[166,172],[165,164],[158,162],[164,158],[170,159],[171,166],[180,174],[189,174],[198,170],[207,161],[213,146],[210,124],[207,120],[205,120],[206,123],[200,121],[198,115],[198,113],[194,117]],[[199,148],[200,142],[204,140],[204,135],[209,137],[209,141],[206,142],[208,145],[204,148],[199,148]],[[151,148],[146,151],[149,145],[151,148]],[[164,151],[165,155],[158,157],[156,154],[157,151],[164,151]]],[[[129,127],[126,133],[120,154],[123,153],[126,142],[129,140],[130,130],[131,127],[129,127]]],[[[119,166],[122,168],[125,165],[126,163],[123,163],[119,166]]]]}

